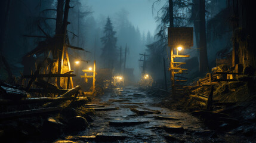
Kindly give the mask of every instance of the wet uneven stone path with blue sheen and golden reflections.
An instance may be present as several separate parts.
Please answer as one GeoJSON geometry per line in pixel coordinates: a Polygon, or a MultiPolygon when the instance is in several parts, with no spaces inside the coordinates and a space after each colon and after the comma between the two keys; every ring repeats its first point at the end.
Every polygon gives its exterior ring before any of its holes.
{"type": "Polygon", "coordinates": [[[164,97],[138,88],[116,88],[96,97],[94,122],[69,141],[84,142],[223,142],[189,113],[154,107],[164,97]]]}

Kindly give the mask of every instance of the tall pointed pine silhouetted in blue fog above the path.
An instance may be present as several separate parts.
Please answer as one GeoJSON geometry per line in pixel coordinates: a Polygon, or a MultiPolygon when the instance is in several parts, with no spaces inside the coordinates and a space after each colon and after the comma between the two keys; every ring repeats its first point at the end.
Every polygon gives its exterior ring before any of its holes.
{"type": "Polygon", "coordinates": [[[101,58],[104,61],[104,67],[112,69],[114,67],[114,61],[117,59],[116,51],[116,41],[115,37],[116,32],[113,31],[113,26],[109,17],[107,17],[107,23],[104,27],[104,35],[101,38],[103,43],[101,58]]]}

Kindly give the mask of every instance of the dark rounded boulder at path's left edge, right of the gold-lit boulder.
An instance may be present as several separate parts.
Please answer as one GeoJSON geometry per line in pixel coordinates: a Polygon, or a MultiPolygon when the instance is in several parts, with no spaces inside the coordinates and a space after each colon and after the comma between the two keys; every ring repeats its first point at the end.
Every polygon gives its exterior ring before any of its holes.
{"type": "Polygon", "coordinates": [[[76,116],[67,122],[67,132],[85,130],[89,126],[84,117],[76,116]]]}

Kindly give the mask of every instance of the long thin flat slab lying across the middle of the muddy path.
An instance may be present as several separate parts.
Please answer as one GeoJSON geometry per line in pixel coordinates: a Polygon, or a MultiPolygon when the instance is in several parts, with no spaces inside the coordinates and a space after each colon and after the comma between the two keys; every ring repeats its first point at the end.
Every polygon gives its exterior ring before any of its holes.
{"type": "Polygon", "coordinates": [[[145,120],[113,120],[109,122],[110,126],[131,126],[131,125],[139,125],[143,123],[149,123],[149,121],[145,120]]]}

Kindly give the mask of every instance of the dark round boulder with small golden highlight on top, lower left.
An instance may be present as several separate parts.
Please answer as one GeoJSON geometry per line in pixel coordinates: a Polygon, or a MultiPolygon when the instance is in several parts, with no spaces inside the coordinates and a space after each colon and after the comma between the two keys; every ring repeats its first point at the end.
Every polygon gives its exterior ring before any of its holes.
{"type": "Polygon", "coordinates": [[[47,140],[58,138],[58,136],[61,135],[63,128],[63,123],[49,117],[42,125],[42,136],[47,140]]]}

